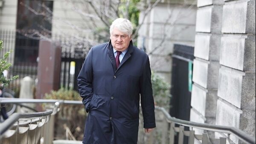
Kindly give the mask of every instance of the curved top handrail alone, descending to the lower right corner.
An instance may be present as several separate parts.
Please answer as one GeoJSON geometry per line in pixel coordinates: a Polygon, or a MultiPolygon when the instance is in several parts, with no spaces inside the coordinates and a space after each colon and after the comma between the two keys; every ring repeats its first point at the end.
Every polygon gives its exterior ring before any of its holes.
{"type": "Polygon", "coordinates": [[[223,132],[228,134],[236,135],[239,139],[241,139],[244,142],[247,142],[249,144],[255,144],[255,138],[248,135],[242,130],[239,130],[235,127],[228,127],[228,126],[221,126],[221,125],[215,125],[215,124],[202,124],[202,123],[196,123],[192,121],[185,121],[178,118],[171,117],[171,115],[164,109],[163,107],[155,106],[155,109],[160,110],[163,112],[163,114],[166,117],[166,120],[170,122],[174,122],[175,124],[180,124],[186,127],[194,127],[202,130],[211,130],[215,132],[223,132]]]}

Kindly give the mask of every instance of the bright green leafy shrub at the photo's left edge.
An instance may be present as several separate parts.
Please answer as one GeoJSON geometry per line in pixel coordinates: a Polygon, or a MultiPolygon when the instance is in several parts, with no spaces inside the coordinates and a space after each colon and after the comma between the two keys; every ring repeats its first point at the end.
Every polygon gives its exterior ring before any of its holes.
{"type": "MultiPolygon", "coordinates": [[[[3,49],[3,41],[0,40],[0,51],[3,49]]],[[[8,70],[10,68],[10,66],[12,66],[11,63],[8,63],[6,61],[6,59],[9,57],[9,55],[11,54],[11,51],[10,52],[6,52],[4,55],[3,55],[3,58],[0,58],[0,88],[2,87],[6,87],[8,86],[8,84],[10,83],[10,81],[18,78],[19,76],[18,75],[15,75],[13,76],[12,78],[6,78],[4,75],[3,75],[3,71],[4,70],[8,70]]]]}

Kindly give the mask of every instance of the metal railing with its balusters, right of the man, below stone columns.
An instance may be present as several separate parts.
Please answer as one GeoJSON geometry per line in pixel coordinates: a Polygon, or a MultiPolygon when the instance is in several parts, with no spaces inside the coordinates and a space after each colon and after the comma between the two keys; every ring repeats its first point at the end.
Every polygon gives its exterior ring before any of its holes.
{"type": "Polygon", "coordinates": [[[215,124],[202,124],[196,123],[192,121],[185,121],[177,118],[173,118],[169,115],[169,113],[163,107],[155,106],[156,110],[159,110],[165,116],[166,121],[170,124],[169,127],[169,144],[174,144],[175,133],[178,133],[178,144],[183,144],[184,136],[187,136],[189,139],[189,144],[194,144],[195,141],[201,144],[233,144],[232,138],[230,135],[236,136],[240,141],[243,141],[247,144],[255,144],[255,137],[252,137],[241,131],[235,127],[228,126],[220,126],[215,124]],[[175,127],[175,124],[180,125],[179,127],[175,127]],[[184,130],[184,127],[189,127],[189,130],[184,130]],[[220,138],[209,138],[208,133],[195,134],[195,130],[193,129],[201,129],[211,132],[219,132],[222,133],[224,137],[220,138]],[[226,135],[224,135],[226,134],[226,135]]]}

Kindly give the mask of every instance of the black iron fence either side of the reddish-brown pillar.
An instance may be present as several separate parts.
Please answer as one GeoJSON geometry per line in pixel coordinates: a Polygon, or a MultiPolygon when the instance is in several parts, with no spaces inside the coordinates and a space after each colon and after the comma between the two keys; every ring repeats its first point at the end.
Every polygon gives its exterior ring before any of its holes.
{"type": "MultiPolygon", "coordinates": [[[[9,84],[9,88],[15,91],[15,97],[18,97],[22,78],[29,76],[36,82],[40,37],[27,37],[14,30],[0,30],[0,40],[3,40],[4,46],[0,57],[12,51],[7,59],[12,64],[7,77],[19,75],[17,80],[9,84]]],[[[52,35],[48,40],[62,47],[59,87],[78,90],[76,78],[90,47],[63,35],[52,35]]]]}

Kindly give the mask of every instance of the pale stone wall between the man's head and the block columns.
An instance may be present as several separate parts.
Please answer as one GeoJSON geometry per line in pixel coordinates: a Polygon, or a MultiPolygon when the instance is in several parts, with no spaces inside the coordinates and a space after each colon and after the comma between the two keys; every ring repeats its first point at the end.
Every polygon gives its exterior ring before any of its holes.
{"type": "MultiPolygon", "coordinates": [[[[171,0],[172,2],[172,0],[171,0]]],[[[193,3],[169,6],[158,3],[151,12],[141,9],[137,47],[149,54],[151,69],[171,83],[172,52],[174,44],[194,46],[196,7],[193,3]],[[145,20],[143,20],[145,17],[145,20]]]]}

